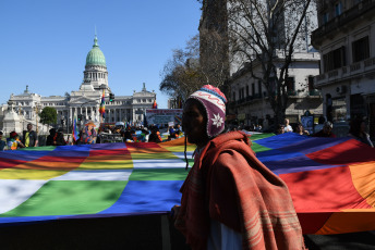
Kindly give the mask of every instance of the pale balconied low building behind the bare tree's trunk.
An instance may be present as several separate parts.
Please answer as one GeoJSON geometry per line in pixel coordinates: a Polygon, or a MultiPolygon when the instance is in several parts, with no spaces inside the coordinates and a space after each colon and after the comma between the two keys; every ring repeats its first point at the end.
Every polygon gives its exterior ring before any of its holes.
{"type": "MultiPolygon", "coordinates": [[[[279,54],[279,57],[282,57],[279,54]]],[[[320,92],[314,88],[314,76],[319,72],[317,52],[300,52],[293,55],[287,79],[288,104],[286,117],[290,123],[298,123],[306,111],[316,117],[323,114],[320,92]]],[[[262,74],[261,65],[253,72],[262,74]]],[[[230,79],[231,97],[229,109],[234,112],[239,123],[271,124],[274,111],[268,102],[265,86],[251,76],[251,71],[244,67],[230,79]],[[265,122],[267,120],[267,122],[265,122]]],[[[232,114],[233,117],[233,114],[232,114]]],[[[266,126],[266,125],[264,125],[266,126]]]]}

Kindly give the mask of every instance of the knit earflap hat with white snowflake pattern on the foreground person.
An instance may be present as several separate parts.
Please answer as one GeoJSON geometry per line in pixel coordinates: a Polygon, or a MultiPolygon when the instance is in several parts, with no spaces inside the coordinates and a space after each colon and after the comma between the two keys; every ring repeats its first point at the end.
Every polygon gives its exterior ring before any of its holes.
{"type": "Polygon", "coordinates": [[[225,129],[227,98],[220,89],[204,85],[199,90],[193,92],[188,99],[199,101],[207,114],[207,135],[214,138],[225,129]]]}

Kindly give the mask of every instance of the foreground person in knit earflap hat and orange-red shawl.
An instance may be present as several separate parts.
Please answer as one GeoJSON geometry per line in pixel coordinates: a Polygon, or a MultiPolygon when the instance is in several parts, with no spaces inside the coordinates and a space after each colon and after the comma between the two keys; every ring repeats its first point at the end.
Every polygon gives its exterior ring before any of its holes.
{"type": "Polygon", "coordinates": [[[184,104],[182,127],[196,150],[181,207],[172,208],[174,226],[192,249],[304,249],[287,185],[259,162],[245,134],[225,133],[226,102],[205,85],[184,104]]]}

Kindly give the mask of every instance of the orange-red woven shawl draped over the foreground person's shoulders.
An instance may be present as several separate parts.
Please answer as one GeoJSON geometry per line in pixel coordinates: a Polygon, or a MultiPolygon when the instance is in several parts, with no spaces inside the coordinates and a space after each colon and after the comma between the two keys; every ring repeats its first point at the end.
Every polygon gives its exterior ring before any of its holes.
{"type": "Polygon", "coordinates": [[[207,249],[211,220],[242,233],[243,249],[304,249],[288,187],[256,159],[240,132],[208,142],[181,192],[176,225],[192,249],[207,249]]]}

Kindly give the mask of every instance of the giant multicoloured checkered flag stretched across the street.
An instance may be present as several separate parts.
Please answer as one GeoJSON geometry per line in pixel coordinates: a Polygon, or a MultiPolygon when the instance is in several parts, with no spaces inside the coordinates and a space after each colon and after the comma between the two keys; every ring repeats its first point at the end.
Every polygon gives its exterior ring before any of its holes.
{"type": "MultiPolygon", "coordinates": [[[[304,234],[375,230],[374,148],[293,133],[251,139],[288,185],[304,234]]],[[[167,213],[188,174],[183,141],[2,151],[0,224],[167,213]]],[[[189,145],[191,165],[193,151],[189,145]]]]}

